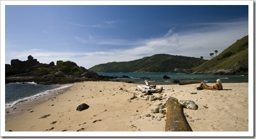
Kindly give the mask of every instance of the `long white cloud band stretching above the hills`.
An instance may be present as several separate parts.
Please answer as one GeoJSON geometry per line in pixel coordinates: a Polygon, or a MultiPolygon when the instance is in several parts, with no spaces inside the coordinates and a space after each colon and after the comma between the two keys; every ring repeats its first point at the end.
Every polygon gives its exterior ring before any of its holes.
{"type": "MultiPolygon", "coordinates": [[[[210,24],[210,23],[209,23],[210,24]]],[[[216,24],[216,23],[214,23],[216,24]]],[[[224,49],[235,43],[237,39],[248,34],[248,23],[239,21],[218,26],[218,29],[208,29],[207,31],[188,31],[187,33],[175,33],[174,28],[167,31],[167,34],[160,38],[152,38],[137,41],[127,41],[121,39],[93,40],[97,44],[116,44],[121,46],[131,45],[131,47],[121,47],[122,49],[109,49],[109,51],[47,51],[43,49],[31,49],[28,51],[8,51],[6,60],[21,59],[26,60],[28,55],[32,55],[41,63],[56,62],[57,60],[74,61],[79,66],[91,68],[96,64],[108,63],[112,61],[131,61],[143,56],[165,53],[181,56],[192,56],[209,59],[209,53],[218,50],[220,54],[224,49]],[[15,57],[15,58],[14,58],[15,57]]],[[[74,36],[81,43],[87,43],[86,39],[74,36]]],[[[90,38],[90,36],[89,36],[90,38]]],[[[91,40],[89,40],[91,41],[91,40]]]]}

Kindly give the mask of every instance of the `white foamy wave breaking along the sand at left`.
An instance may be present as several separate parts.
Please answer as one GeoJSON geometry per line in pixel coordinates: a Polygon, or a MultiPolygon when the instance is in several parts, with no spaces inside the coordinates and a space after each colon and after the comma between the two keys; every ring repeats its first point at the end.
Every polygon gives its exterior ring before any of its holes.
{"type": "MultiPolygon", "coordinates": [[[[30,83],[32,83],[32,82],[30,82],[30,83]]],[[[40,96],[48,95],[49,93],[51,93],[53,91],[62,90],[64,88],[68,88],[68,87],[70,87],[72,85],[74,85],[74,84],[67,84],[67,85],[64,85],[64,86],[60,86],[59,88],[55,88],[55,89],[52,89],[52,90],[47,90],[47,91],[40,92],[40,93],[38,93],[36,95],[33,95],[33,96],[28,96],[26,98],[21,98],[19,100],[13,101],[11,103],[5,104],[5,108],[11,108],[14,105],[17,105],[18,103],[22,103],[22,102],[25,102],[25,101],[35,100],[36,98],[38,98],[40,96]]]]}

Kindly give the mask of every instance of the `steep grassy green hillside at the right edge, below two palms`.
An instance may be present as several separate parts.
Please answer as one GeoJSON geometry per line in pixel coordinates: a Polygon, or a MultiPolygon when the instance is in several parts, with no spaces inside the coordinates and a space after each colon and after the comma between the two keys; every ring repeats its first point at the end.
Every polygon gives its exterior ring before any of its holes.
{"type": "Polygon", "coordinates": [[[193,68],[194,73],[248,75],[248,35],[213,59],[193,68]]]}

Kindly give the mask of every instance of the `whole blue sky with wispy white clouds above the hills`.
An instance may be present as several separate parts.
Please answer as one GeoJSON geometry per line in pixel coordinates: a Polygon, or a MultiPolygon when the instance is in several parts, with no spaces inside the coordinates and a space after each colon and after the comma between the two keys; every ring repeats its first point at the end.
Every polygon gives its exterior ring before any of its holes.
{"type": "Polygon", "coordinates": [[[5,63],[132,61],[153,54],[210,59],[248,35],[248,5],[6,5],[5,63]]]}

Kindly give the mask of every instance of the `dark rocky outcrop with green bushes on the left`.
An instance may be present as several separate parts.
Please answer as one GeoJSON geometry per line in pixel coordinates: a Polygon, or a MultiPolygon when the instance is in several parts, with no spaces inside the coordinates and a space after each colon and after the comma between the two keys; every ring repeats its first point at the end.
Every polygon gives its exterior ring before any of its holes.
{"type": "Polygon", "coordinates": [[[94,71],[77,66],[72,61],[57,61],[57,64],[43,64],[28,56],[26,61],[12,59],[5,64],[6,83],[35,81],[41,84],[64,84],[78,81],[108,80],[94,71]]]}

